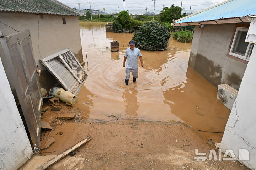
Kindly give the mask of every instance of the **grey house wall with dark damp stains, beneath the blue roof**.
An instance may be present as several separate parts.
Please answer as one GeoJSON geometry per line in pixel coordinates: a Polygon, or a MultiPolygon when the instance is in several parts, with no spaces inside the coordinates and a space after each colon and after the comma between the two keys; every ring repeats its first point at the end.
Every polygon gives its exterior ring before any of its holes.
{"type": "Polygon", "coordinates": [[[247,64],[227,56],[234,28],[235,23],[195,26],[188,64],[215,86],[239,89],[247,64]]]}

